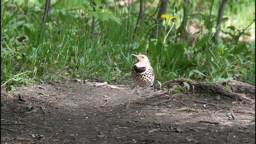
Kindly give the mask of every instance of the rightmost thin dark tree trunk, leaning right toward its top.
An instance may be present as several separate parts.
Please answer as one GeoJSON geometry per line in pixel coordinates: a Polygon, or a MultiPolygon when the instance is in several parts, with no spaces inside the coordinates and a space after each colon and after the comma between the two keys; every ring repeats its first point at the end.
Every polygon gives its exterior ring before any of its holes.
{"type": "Polygon", "coordinates": [[[224,9],[225,9],[227,1],[228,0],[222,0],[222,2],[220,4],[220,9],[219,9],[219,12],[218,12],[218,20],[217,20],[217,30],[216,30],[216,33],[214,35],[215,42],[218,42],[218,38],[219,38],[219,34],[220,34],[220,26],[221,26],[221,22],[222,22],[222,16],[223,16],[224,9]]]}

